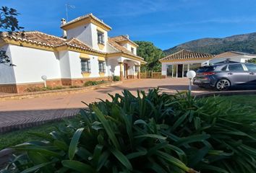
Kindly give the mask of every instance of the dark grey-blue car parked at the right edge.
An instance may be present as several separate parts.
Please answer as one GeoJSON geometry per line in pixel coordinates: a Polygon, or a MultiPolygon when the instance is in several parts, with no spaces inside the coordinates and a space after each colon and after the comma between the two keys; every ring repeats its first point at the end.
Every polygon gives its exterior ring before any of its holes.
{"type": "Polygon", "coordinates": [[[200,87],[215,87],[224,91],[231,86],[256,86],[255,63],[219,63],[202,66],[197,71],[193,84],[200,87]]]}

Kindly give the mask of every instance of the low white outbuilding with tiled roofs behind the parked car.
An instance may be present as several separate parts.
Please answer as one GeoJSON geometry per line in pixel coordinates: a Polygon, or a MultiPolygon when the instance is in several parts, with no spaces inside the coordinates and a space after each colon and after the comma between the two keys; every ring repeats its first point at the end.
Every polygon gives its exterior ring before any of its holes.
{"type": "Polygon", "coordinates": [[[200,66],[208,66],[210,64],[221,63],[223,61],[245,63],[252,58],[256,58],[256,55],[235,51],[229,51],[213,56],[207,53],[180,50],[177,53],[161,58],[159,61],[162,64],[162,78],[182,78],[186,77],[187,71],[195,71],[200,66]]]}

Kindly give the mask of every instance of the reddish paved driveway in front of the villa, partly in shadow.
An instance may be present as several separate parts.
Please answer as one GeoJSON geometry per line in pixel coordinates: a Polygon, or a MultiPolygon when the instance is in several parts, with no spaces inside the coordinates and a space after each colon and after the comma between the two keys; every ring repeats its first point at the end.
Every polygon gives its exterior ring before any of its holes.
{"type": "MultiPolygon", "coordinates": [[[[74,115],[80,107],[85,107],[81,102],[96,102],[98,98],[109,99],[108,94],[121,93],[128,89],[135,93],[137,89],[148,90],[159,87],[162,92],[176,92],[187,90],[188,79],[140,79],[124,81],[117,86],[85,92],[81,94],[68,94],[35,99],[7,100],[0,102],[0,133],[14,128],[29,127],[38,122],[44,122],[61,117],[74,115]]],[[[193,86],[194,92],[207,92],[193,86]]]]}

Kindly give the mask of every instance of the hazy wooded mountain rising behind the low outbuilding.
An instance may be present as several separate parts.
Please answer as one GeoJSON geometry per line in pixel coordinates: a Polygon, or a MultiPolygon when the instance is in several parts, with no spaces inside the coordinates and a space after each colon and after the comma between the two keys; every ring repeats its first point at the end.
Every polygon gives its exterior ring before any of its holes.
{"type": "Polygon", "coordinates": [[[223,38],[202,38],[163,50],[166,55],[187,49],[216,55],[229,50],[256,54],[256,32],[223,38]]]}

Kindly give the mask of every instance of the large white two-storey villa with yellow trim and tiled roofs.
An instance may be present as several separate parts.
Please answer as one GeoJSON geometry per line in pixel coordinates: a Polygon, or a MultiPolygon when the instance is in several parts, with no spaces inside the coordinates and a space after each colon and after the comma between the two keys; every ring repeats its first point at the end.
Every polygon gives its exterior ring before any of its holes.
{"type": "Polygon", "coordinates": [[[108,37],[111,27],[87,14],[61,19],[63,37],[43,32],[3,33],[1,50],[15,66],[0,64],[0,92],[24,92],[30,86],[80,86],[89,80],[140,78],[143,58],[128,35],[108,37]]]}

